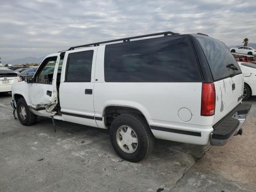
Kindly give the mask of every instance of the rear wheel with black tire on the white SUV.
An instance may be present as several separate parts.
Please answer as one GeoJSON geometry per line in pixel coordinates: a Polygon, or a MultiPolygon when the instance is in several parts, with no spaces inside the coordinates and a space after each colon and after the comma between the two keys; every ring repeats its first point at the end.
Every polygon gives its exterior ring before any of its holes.
{"type": "Polygon", "coordinates": [[[154,135],[146,120],[136,114],[117,116],[110,127],[110,140],[123,159],[139,162],[154,148],[154,135]]]}

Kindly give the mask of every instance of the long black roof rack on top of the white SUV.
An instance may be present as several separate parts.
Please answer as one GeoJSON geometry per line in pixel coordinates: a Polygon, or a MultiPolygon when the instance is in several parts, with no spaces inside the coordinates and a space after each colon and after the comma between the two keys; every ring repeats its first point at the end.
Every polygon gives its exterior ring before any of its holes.
{"type": "Polygon", "coordinates": [[[102,42],[97,42],[97,43],[91,43],[91,44],[85,44],[85,45],[74,46],[74,47],[70,47],[70,48],[68,49],[68,51],[69,51],[69,50],[74,50],[75,48],[80,48],[80,47],[99,46],[100,44],[111,43],[111,42],[117,42],[117,41],[128,42],[128,41],[130,41],[131,39],[138,39],[138,38],[151,37],[151,36],[158,36],[158,35],[167,36],[168,34],[171,34],[171,35],[179,35],[179,33],[174,33],[174,32],[171,32],[171,31],[160,32],[160,33],[152,33],[152,34],[147,34],[147,35],[140,35],[140,36],[127,37],[127,38],[122,38],[122,39],[115,39],[115,40],[102,41],[102,42]]]}

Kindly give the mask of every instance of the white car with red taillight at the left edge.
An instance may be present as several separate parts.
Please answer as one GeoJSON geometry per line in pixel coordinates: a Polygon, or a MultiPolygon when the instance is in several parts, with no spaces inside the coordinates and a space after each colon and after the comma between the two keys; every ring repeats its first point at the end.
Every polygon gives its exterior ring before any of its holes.
{"type": "Polygon", "coordinates": [[[18,74],[8,68],[0,68],[0,92],[10,92],[14,83],[21,81],[18,74]]]}

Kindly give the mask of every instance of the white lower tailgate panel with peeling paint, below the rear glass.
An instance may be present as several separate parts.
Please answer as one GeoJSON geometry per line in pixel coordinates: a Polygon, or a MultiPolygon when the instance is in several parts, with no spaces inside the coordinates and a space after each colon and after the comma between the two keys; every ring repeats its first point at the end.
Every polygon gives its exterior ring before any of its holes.
{"type": "Polygon", "coordinates": [[[239,74],[216,81],[214,85],[216,92],[215,124],[241,102],[244,88],[243,75],[239,74]]]}

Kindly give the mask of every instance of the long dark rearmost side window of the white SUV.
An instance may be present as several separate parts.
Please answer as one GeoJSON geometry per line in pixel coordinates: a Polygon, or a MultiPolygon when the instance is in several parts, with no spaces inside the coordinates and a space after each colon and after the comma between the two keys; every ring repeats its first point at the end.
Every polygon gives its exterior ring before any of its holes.
{"type": "Polygon", "coordinates": [[[193,50],[186,36],[106,45],[106,82],[199,82],[193,50]]]}

